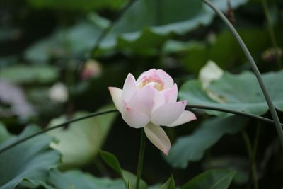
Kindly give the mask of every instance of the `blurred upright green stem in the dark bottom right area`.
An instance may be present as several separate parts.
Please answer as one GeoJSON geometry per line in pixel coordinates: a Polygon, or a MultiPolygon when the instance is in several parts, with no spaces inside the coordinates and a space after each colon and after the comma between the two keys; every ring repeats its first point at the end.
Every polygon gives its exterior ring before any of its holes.
{"type": "Polygon", "coordinates": [[[246,133],[246,131],[242,131],[242,135],[246,143],[248,157],[250,159],[250,169],[251,169],[252,178],[253,178],[253,188],[258,189],[258,173],[257,173],[256,163],[255,163],[255,154],[253,154],[253,148],[250,143],[250,138],[248,137],[248,134],[246,133]]]}

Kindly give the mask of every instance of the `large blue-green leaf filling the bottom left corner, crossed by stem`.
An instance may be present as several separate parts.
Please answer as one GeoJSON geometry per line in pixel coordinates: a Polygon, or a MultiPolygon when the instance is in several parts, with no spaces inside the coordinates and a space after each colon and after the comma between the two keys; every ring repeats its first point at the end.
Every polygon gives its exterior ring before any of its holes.
{"type": "MultiPolygon", "coordinates": [[[[0,149],[40,131],[38,127],[27,127],[18,137],[10,137],[0,144],[0,149]]],[[[0,188],[11,189],[23,181],[41,185],[48,176],[50,168],[59,164],[61,155],[50,149],[51,137],[42,134],[0,154],[0,188]]]]}

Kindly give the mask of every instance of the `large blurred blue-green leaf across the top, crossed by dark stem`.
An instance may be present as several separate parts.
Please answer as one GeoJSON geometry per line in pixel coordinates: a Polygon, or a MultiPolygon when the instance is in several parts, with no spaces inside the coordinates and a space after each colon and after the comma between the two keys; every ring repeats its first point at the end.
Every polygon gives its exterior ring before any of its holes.
{"type": "MultiPolygon", "coordinates": [[[[225,11],[226,1],[214,0],[225,11]]],[[[233,8],[246,0],[232,1],[233,8]]],[[[114,28],[100,44],[104,50],[127,50],[139,54],[156,53],[156,48],[171,35],[183,35],[211,23],[214,13],[199,0],[138,0],[115,23],[114,28]]],[[[69,29],[57,30],[49,38],[37,42],[26,52],[33,61],[46,61],[50,57],[81,55],[91,49],[105,23],[105,18],[92,19],[92,23],[79,23],[69,29]],[[101,22],[101,20],[103,20],[101,22]]]]}

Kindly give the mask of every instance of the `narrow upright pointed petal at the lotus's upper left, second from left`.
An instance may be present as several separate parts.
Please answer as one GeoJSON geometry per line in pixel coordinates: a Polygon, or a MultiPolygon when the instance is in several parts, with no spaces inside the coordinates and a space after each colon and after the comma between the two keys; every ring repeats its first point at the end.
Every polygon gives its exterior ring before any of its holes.
{"type": "Polygon", "coordinates": [[[128,74],[123,86],[122,100],[128,102],[136,91],[136,80],[132,74],[128,74]]]}

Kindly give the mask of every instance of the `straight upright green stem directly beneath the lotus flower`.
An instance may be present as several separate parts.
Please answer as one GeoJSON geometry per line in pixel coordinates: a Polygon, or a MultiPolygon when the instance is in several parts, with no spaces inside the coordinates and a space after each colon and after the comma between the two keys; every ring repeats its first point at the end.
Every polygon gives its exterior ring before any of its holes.
{"type": "Polygon", "coordinates": [[[144,149],[146,147],[146,137],[144,135],[144,130],[141,130],[141,147],[139,148],[139,162],[137,164],[137,183],[136,189],[139,189],[139,181],[141,180],[141,172],[144,164],[144,149]]]}

